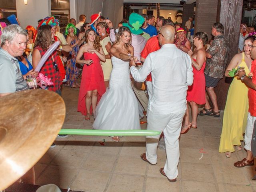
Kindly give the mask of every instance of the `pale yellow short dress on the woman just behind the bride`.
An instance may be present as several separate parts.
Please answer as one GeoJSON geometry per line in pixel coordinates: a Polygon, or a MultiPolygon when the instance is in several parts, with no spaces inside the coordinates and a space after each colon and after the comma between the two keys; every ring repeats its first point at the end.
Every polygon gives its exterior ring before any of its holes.
{"type": "MultiPolygon", "coordinates": [[[[110,38],[108,36],[100,41],[100,44],[102,46],[102,49],[103,49],[105,55],[108,55],[108,52],[107,52],[106,47],[105,47],[106,44],[108,44],[108,42],[111,43],[110,38]]],[[[103,70],[104,81],[109,81],[110,73],[112,71],[111,59],[106,59],[105,62],[101,61],[101,67],[102,67],[102,70],[103,70]]]]}

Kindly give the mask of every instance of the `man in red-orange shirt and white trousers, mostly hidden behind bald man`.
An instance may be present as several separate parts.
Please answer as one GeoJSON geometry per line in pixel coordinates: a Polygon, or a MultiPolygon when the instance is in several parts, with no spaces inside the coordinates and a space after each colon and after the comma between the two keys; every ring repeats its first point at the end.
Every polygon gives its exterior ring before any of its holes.
{"type": "MultiPolygon", "coordinates": [[[[170,25],[170,26],[174,27],[174,23],[170,19],[165,19],[164,20],[162,26],[165,26],[165,25],[170,25]]],[[[147,41],[144,49],[140,53],[140,61],[144,62],[146,57],[148,56],[148,54],[150,54],[150,53],[152,53],[154,51],[157,51],[160,48],[161,47],[160,47],[160,44],[158,42],[158,35],[150,38],[147,41]]],[[[151,73],[146,78],[146,85],[147,85],[147,90],[148,90],[148,101],[150,101],[150,98],[152,96],[152,78],[151,78],[151,73]]]]}

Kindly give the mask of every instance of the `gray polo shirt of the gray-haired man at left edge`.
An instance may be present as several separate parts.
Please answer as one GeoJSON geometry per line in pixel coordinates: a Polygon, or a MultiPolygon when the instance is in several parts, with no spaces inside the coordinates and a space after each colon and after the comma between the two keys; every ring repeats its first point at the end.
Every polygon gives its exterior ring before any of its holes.
{"type": "Polygon", "coordinates": [[[14,93],[28,89],[20,72],[18,60],[0,48],[0,93],[14,93]]]}

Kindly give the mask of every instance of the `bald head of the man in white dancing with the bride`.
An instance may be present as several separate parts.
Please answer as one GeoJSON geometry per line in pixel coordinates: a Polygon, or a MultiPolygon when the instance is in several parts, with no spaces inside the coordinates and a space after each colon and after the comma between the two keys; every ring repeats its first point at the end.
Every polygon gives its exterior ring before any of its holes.
{"type": "MultiPolygon", "coordinates": [[[[175,38],[175,28],[170,25],[162,26],[160,35],[162,34],[160,45],[173,43],[175,38]]],[[[159,39],[159,38],[158,38],[159,39]]]]}

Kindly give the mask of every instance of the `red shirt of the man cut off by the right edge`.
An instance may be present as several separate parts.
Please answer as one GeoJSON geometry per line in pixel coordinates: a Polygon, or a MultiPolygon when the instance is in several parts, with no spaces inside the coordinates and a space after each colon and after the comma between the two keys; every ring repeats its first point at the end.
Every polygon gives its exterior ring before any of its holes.
{"type": "MultiPolygon", "coordinates": [[[[252,82],[256,84],[256,60],[252,62],[251,66],[252,82]]],[[[248,98],[249,98],[249,113],[251,116],[256,117],[256,90],[249,88],[248,91],[248,98]]]]}

